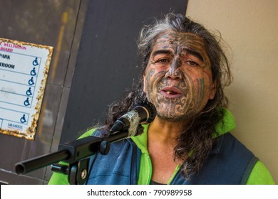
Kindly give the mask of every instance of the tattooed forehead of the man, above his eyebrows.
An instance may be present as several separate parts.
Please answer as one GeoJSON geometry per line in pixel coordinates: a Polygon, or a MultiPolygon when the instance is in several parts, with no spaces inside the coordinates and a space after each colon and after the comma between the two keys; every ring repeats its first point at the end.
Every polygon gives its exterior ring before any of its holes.
{"type": "MultiPolygon", "coordinates": [[[[209,65],[210,58],[207,55],[205,43],[200,36],[193,33],[168,32],[160,35],[155,43],[153,55],[160,53],[158,49],[170,49],[174,55],[194,55],[201,60],[205,66],[209,65]]],[[[162,50],[161,50],[162,52],[162,50]]]]}

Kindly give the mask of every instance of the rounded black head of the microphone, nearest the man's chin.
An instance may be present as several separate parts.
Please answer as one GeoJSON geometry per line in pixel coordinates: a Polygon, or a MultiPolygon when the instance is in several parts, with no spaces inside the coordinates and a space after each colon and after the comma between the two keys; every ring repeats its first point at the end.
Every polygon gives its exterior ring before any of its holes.
{"type": "Polygon", "coordinates": [[[145,110],[145,114],[147,114],[146,117],[143,118],[143,121],[140,121],[141,124],[148,124],[150,122],[153,122],[156,116],[155,105],[148,101],[140,101],[135,104],[134,109],[136,109],[136,107],[140,107],[140,109],[143,108],[145,110]]]}

